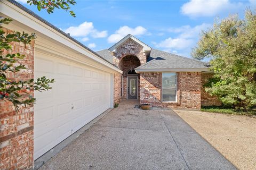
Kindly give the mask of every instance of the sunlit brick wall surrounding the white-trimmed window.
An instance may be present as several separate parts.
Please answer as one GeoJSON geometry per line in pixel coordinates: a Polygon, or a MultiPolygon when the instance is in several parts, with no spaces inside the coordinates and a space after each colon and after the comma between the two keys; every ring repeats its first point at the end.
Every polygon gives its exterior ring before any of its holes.
{"type": "Polygon", "coordinates": [[[162,103],[162,73],[140,74],[140,103],[156,107],[194,108],[201,107],[201,73],[177,73],[177,103],[162,103]]]}

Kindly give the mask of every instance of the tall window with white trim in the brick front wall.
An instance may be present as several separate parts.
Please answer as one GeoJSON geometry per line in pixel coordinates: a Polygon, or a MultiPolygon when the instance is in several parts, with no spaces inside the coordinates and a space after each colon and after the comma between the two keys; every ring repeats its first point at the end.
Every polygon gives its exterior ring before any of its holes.
{"type": "Polygon", "coordinates": [[[177,100],[177,74],[162,73],[162,101],[177,100]]]}

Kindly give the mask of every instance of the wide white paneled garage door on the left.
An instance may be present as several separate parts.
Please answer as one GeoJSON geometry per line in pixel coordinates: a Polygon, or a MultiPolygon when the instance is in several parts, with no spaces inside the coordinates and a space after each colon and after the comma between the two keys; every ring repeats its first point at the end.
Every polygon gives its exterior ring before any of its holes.
{"type": "Polygon", "coordinates": [[[43,53],[35,56],[35,78],[55,79],[50,91],[35,92],[37,159],[109,108],[110,74],[43,53]]]}

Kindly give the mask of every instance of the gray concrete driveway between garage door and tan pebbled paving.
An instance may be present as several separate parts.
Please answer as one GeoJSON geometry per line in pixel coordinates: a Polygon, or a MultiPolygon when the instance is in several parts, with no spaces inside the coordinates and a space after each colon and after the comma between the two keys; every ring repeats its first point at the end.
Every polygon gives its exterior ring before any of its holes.
{"type": "Polygon", "coordinates": [[[236,169],[172,110],[118,108],[40,169],[236,169]]]}

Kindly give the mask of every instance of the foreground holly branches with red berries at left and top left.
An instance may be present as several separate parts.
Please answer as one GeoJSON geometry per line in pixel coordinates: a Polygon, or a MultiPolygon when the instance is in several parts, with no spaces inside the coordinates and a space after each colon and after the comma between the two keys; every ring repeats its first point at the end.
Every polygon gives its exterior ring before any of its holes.
{"type": "MultiPolygon", "coordinates": [[[[69,11],[69,4],[74,5],[76,2],[74,0],[28,0],[27,3],[36,5],[39,11],[43,8],[50,14],[55,8],[69,11]]],[[[69,11],[69,13],[75,17],[73,11],[69,11]]],[[[53,83],[54,79],[42,77],[37,80],[13,81],[7,77],[9,72],[17,73],[22,69],[27,69],[25,65],[18,64],[18,61],[23,60],[25,55],[12,53],[11,43],[18,42],[26,46],[36,39],[35,33],[29,35],[28,33],[18,31],[13,31],[12,33],[4,32],[2,25],[9,24],[11,21],[9,18],[0,18],[0,100],[11,101],[16,111],[18,111],[20,105],[27,107],[27,105],[35,103],[36,99],[30,95],[30,92],[51,89],[50,83],[53,83]]]]}

